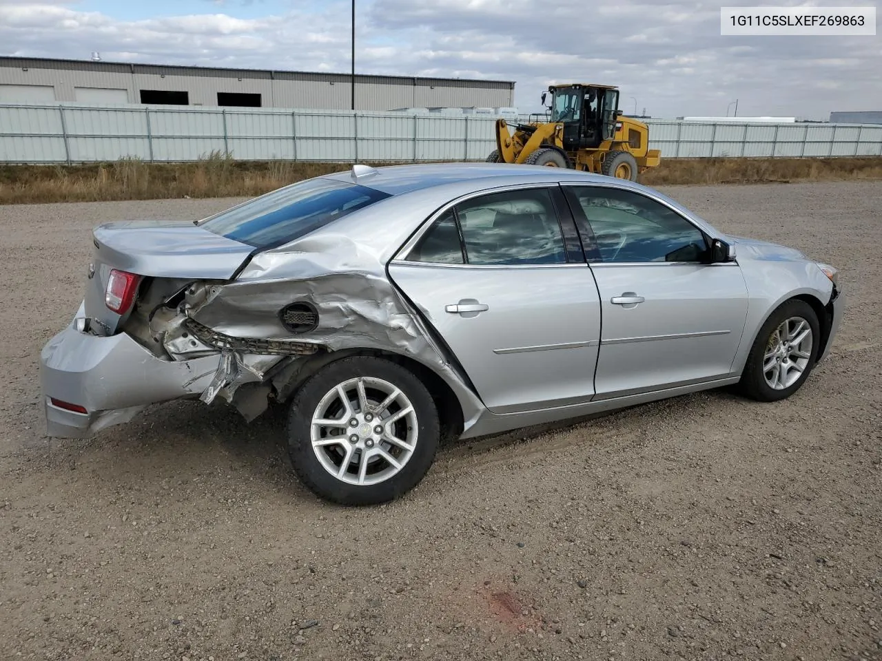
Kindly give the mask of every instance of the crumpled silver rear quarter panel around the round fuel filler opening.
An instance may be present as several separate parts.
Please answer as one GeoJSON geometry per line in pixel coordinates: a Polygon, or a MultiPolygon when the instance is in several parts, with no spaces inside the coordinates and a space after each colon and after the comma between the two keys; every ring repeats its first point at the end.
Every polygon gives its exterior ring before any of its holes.
{"type": "MultiPolygon", "coordinates": [[[[394,200],[374,207],[394,206],[389,204],[394,200]]],[[[371,210],[365,211],[258,253],[234,282],[188,295],[187,314],[213,331],[238,338],[296,340],[332,352],[369,349],[407,356],[451,386],[468,426],[482,410],[480,400],[452,356],[437,345],[386,275],[391,255],[419,223],[399,224],[363,241],[346,226],[357,221],[365,227],[370,219],[364,217],[371,210]],[[280,310],[298,301],[309,302],[318,311],[313,331],[295,334],[280,322],[280,310]]],[[[422,219],[431,211],[422,212],[422,219]]],[[[390,223],[388,217],[385,223],[390,223]]]]}

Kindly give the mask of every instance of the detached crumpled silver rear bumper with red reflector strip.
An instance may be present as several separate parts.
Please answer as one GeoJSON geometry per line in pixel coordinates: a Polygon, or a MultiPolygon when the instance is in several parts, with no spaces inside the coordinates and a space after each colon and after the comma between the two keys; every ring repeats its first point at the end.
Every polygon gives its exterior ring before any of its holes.
{"type": "MultiPolygon", "coordinates": [[[[77,316],[83,316],[80,306],[77,316]]],[[[99,337],[73,324],[43,347],[40,382],[47,434],[88,437],[131,420],[146,405],[198,396],[206,390],[221,354],[194,360],[162,360],[125,333],[99,337]],[[82,406],[69,411],[52,399],[82,406]]]]}

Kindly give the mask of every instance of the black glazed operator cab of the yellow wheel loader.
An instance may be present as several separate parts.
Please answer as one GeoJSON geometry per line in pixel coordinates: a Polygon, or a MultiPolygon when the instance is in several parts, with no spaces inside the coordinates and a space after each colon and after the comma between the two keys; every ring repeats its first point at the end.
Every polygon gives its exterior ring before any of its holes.
{"type": "MultiPolygon", "coordinates": [[[[564,150],[596,149],[616,132],[618,90],[604,85],[557,85],[551,93],[551,122],[564,124],[564,150]]],[[[543,102],[545,94],[542,94],[543,102]]]]}

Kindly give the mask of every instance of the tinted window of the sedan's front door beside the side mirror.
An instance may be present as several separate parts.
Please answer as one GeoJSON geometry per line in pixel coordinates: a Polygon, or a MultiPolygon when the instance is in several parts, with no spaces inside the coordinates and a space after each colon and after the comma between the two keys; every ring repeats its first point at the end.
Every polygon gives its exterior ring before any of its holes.
{"type": "Polygon", "coordinates": [[[699,262],[704,234],[664,204],[628,190],[574,188],[604,262],[699,262]]]}

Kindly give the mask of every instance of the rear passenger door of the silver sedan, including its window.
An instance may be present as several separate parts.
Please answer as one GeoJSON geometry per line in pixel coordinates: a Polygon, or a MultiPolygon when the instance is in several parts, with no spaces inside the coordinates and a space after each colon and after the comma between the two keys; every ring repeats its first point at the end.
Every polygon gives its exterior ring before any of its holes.
{"type": "Polygon", "coordinates": [[[557,186],[461,201],[410,241],[389,273],[490,411],[593,396],[600,301],[557,186]]]}

